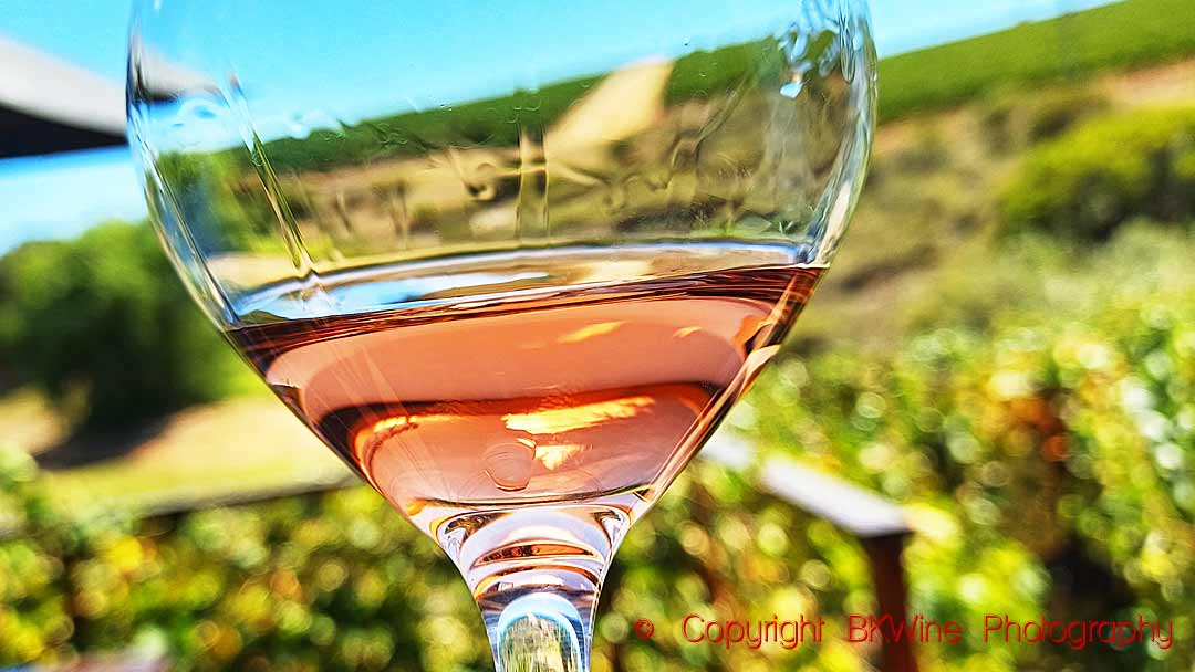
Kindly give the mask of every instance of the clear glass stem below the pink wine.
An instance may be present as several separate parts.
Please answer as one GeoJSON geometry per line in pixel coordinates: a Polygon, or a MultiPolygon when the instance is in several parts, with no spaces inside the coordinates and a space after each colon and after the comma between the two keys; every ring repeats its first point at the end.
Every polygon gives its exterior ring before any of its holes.
{"type": "Polygon", "coordinates": [[[498,672],[588,672],[598,594],[627,525],[619,507],[570,504],[479,511],[441,526],[498,672]]]}

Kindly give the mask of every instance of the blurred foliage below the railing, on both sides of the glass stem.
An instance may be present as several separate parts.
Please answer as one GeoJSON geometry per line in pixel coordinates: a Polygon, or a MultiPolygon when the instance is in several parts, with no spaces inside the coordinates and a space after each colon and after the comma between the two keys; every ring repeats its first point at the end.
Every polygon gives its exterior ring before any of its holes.
{"type": "MultiPolygon", "coordinates": [[[[131,647],[165,654],[172,670],[489,666],[455,569],[363,487],[134,522],[54,510],[19,451],[0,452],[0,482],[17,534],[0,542],[0,665],[131,647]]],[[[625,543],[595,667],[857,668],[842,646],[692,646],[680,623],[694,610],[834,619],[869,594],[851,541],[701,464],[625,543]],[[657,623],[651,642],[630,634],[642,617],[657,623]]]]}

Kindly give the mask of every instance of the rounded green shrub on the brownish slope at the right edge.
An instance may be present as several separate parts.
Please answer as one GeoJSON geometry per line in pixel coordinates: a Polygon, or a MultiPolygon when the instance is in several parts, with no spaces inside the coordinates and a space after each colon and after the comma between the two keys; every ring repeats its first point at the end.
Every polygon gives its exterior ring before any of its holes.
{"type": "Polygon", "coordinates": [[[999,197],[1003,228],[1104,240],[1135,216],[1195,216],[1185,168],[1195,110],[1153,110],[1092,119],[1031,149],[999,197]]]}

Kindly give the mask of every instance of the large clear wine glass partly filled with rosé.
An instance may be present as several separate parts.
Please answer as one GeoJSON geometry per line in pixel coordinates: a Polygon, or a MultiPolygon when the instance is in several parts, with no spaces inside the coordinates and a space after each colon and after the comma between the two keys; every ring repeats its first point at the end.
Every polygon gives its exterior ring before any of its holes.
{"type": "Polygon", "coordinates": [[[588,670],[627,529],[778,351],[871,142],[863,0],[143,0],[129,128],[200,306],[588,670]]]}

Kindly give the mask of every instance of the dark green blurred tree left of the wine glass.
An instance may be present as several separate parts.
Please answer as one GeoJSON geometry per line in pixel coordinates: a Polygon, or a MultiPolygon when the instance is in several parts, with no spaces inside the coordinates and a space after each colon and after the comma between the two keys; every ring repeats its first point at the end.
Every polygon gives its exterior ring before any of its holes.
{"type": "Polygon", "coordinates": [[[153,418],[244,381],[146,226],[103,224],[0,260],[0,351],[87,425],[153,418]]]}

